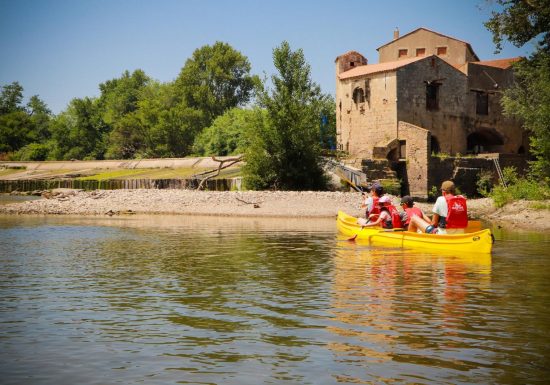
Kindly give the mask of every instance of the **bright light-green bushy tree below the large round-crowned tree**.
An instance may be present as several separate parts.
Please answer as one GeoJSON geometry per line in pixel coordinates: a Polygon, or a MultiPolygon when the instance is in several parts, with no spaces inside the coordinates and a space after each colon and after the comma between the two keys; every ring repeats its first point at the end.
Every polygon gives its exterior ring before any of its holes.
{"type": "MultiPolygon", "coordinates": [[[[260,112],[261,114],[261,112],[260,112]]],[[[258,124],[258,111],[233,108],[218,116],[210,127],[195,139],[194,150],[199,155],[242,154],[249,145],[251,133],[258,124]]]]}

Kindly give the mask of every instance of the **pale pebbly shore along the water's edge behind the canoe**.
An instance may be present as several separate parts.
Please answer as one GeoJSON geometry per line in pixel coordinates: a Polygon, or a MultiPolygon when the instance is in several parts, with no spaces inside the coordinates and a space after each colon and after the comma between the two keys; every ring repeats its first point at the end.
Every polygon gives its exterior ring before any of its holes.
{"type": "MultiPolygon", "coordinates": [[[[0,206],[0,214],[329,218],[335,217],[338,210],[362,215],[360,201],[360,194],[354,192],[58,190],[45,194],[43,199],[0,206]]],[[[430,203],[417,205],[427,213],[431,211],[430,203]]],[[[471,199],[468,209],[471,218],[504,227],[550,231],[550,210],[534,209],[529,202],[516,202],[497,210],[490,199],[471,199]]]]}

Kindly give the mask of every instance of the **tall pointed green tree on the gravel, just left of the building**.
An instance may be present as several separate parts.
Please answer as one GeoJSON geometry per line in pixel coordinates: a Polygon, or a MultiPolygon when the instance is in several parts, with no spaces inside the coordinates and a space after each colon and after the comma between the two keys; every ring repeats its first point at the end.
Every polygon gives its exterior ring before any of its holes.
{"type": "Polygon", "coordinates": [[[319,126],[323,94],[310,78],[301,49],[288,42],[273,50],[279,76],[273,90],[259,93],[267,111],[246,152],[245,184],[252,189],[317,190],[326,186],[321,166],[319,126]]]}

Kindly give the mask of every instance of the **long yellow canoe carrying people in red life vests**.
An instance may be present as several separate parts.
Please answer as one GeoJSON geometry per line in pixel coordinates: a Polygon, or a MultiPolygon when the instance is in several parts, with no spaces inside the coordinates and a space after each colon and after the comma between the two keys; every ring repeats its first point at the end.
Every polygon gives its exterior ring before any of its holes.
{"type": "Polygon", "coordinates": [[[490,253],[493,247],[491,230],[466,234],[435,235],[418,234],[400,230],[382,230],[379,227],[361,228],[357,218],[339,211],[336,222],[338,231],[346,237],[355,237],[373,246],[397,246],[425,250],[463,251],[469,253],[490,253]]]}

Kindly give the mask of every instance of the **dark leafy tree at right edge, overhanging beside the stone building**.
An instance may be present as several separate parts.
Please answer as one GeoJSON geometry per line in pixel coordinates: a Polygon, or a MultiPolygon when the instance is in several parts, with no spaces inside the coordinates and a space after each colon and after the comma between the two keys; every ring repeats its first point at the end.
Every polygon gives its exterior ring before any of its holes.
{"type": "Polygon", "coordinates": [[[493,33],[497,52],[502,41],[517,47],[534,40],[532,56],[514,65],[516,84],[505,91],[506,114],[520,118],[531,132],[533,176],[550,180],[550,0],[497,0],[501,7],[485,26],[493,33]]]}

